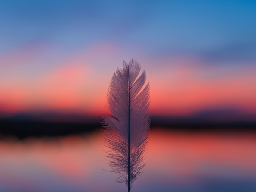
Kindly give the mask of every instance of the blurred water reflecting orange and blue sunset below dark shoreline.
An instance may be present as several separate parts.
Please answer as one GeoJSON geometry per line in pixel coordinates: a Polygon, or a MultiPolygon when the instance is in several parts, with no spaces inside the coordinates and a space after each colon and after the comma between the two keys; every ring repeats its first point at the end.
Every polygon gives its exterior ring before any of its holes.
{"type": "MultiPolygon", "coordinates": [[[[99,132],[0,141],[1,192],[127,191],[114,183],[99,132]]],[[[133,192],[256,191],[251,134],[151,131],[144,172],[133,192]]]]}

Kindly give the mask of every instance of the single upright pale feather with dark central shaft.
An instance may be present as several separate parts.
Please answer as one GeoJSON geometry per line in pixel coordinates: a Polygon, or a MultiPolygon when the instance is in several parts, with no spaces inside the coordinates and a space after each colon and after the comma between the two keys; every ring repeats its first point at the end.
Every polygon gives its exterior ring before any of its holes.
{"type": "Polygon", "coordinates": [[[129,64],[123,61],[123,68],[114,73],[107,92],[107,108],[114,117],[102,119],[111,172],[117,173],[116,182],[125,183],[129,192],[146,164],[151,122],[149,83],[143,88],[146,73],[139,76],[139,72],[140,65],[135,60],[129,64]]]}

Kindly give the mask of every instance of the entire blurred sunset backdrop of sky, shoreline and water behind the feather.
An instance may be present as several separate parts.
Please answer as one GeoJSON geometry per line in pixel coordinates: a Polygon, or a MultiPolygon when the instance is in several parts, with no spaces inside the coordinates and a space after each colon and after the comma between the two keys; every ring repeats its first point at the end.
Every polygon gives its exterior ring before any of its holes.
{"type": "Polygon", "coordinates": [[[0,192],[126,191],[100,135],[111,77],[151,88],[136,191],[256,191],[255,1],[0,1],[0,192]]]}

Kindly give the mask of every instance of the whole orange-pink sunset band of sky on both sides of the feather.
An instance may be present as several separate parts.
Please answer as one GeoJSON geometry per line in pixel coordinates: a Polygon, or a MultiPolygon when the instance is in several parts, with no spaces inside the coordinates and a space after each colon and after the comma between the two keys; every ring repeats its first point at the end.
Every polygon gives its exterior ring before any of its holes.
{"type": "MultiPolygon", "coordinates": [[[[0,110],[107,113],[106,92],[112,74],[122,67],[124,54],[125,49],[98,43],[53,66],[0,72],[0,110]]],[[[207,65],[200,58],[186,57],[136,59],[150,82],[152,114],[188,115],[218,107],[256,113],[255,65],[207,65]]]]}

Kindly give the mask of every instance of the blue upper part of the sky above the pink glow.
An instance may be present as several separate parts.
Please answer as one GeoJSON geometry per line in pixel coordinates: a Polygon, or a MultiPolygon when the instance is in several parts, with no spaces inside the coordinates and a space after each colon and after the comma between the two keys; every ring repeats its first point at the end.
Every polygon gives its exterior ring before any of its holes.
{"type": "Polygon", "coordinates": [[[4,1],[0,23],[3,53],[33,41],[70,50],[108,41],[210,59],[256,51],[255,1],[4,1]]]}

